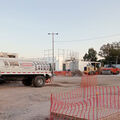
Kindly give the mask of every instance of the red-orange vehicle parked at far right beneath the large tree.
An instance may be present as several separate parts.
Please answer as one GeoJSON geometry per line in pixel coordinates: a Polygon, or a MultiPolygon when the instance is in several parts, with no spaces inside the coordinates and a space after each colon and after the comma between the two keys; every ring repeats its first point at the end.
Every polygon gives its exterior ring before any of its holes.
{"type": "Polygon", "coordinates": [[[106,65],[105,67],[103,67],[101,69],[101,74],[105,75],[105,74],[119,74],[120,72],[120,69],[115,67],[115,66],[112,66],[112,65],[106,65]]]}

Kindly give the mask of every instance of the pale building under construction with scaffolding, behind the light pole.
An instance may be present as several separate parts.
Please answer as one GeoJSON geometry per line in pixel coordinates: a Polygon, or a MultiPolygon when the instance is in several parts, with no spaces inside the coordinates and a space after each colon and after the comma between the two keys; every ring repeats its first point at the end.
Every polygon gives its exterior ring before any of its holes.
{"type": "MultiPolygon", "coordinates": [[[[44,50],[43,58],[52,63],[52,50],[44,50]]],[[[75,71],[79,69],[79,53],[72,50],[58,49],[54,57],[55,71],[75,71]]]]}

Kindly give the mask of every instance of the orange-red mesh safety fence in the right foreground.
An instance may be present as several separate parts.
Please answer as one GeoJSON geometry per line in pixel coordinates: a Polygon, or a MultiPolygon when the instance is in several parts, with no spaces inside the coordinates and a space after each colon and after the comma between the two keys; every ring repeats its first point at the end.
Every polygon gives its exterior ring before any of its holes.
{"type": "Polygon", "coordinates": [[[50,120],[120,120],[120,87],[91,84],[51,94],[50,120]]]}

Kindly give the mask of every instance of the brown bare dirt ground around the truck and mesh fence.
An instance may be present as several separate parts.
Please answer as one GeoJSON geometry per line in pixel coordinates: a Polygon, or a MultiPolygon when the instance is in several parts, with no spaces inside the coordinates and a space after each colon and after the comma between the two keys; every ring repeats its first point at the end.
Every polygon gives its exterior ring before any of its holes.
{"type": "MultiPolygon", "coordinates": [[[[42,88],[0,84],[0,120],[49,120],[50,94],[80,87],[81,77],[55,77],[42,88]]],[[[120,75],[99,75],[98,85],[119,86],[120,75]]]]}

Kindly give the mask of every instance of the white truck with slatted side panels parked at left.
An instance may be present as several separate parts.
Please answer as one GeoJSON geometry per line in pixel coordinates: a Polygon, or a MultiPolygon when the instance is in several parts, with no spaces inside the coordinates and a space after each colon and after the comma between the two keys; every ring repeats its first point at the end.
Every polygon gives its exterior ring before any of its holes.
{"type": "Polygon", "coordinates": [[[26,86],[42,87],[51,76],[45,60],[0,58],[0,80],[22,80],[26,86]]]}

